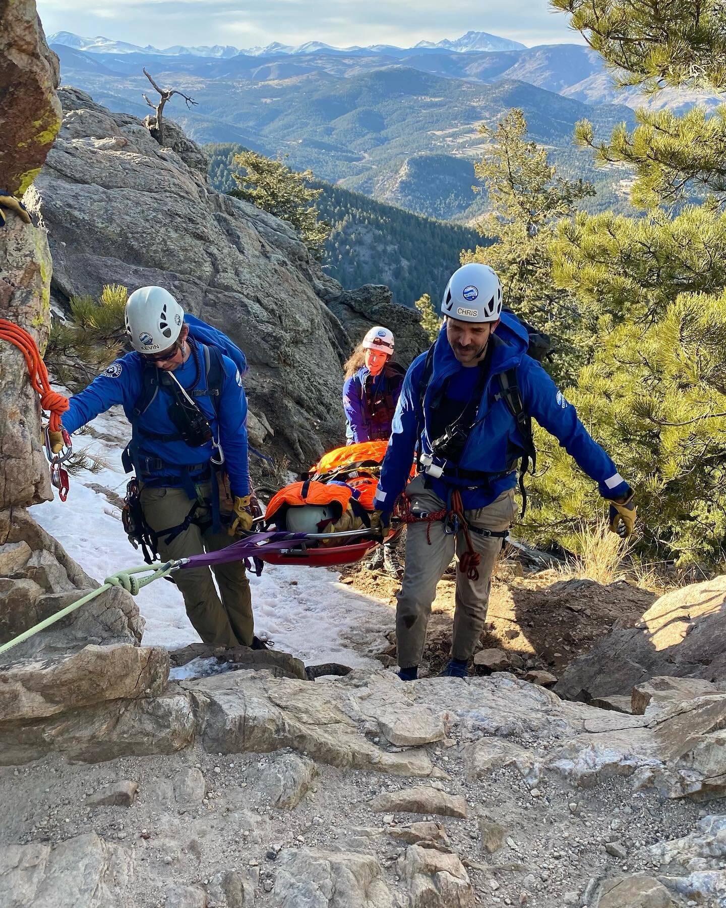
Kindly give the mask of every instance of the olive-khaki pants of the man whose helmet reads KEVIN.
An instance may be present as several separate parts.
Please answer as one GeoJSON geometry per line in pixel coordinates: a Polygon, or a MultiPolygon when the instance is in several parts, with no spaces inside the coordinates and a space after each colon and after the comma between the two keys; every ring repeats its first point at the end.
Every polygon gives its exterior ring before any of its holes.
{"type": "MultiPolygon", "coordinates": [[[[200,489],[205,500],[209,501],[211,483],[201,483],[200,489]]],[[[190,501],[184,489],[143,486],[141,490],[143,516],[156,532],[183,523],[192,504],[193,501],[190,501]]],[[[201,520],[211,520],[211,508],[198,508],[196,516],[201,520]]],[[[190,555],[202,555],[205,551],[216,552],[233,541],[224,529],[221,533],[214,533],[210,528],[202,533],[192,523],[168,545],[160,538],[159,554],[164,561],[170,558],[188,558],[190,555]]],[[[231,561],[212,569],[220,587],[221,601],[210,568],[185,568],[174,573],[176,585],[184,597],[189,620],[204,643],[250,646],[254,621],[250,581],[244,564],[241,561],[231,561]]]]}

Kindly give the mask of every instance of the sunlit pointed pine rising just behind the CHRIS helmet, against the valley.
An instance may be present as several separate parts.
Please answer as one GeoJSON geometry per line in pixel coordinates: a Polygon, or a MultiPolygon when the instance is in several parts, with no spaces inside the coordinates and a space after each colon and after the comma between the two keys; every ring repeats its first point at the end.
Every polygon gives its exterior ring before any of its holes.
{"type": "Polygon", "coordinates": [[[493,242],[462,252],[461,262],[491,265],[502,281],[505,305],[553,337],[559,355],[548,368],[562,381],[574,377],[584,360],[588,348],[577,343],[577,335],[588,320],[570,291],[554,285],[549,244],[554,224],[594,189],[583,180],[557,177],[544,148],[527,139],[526,131],[525,115],[516,108],[496,129],[479,128],[488,146],[475,173],[493,210],[476,227],[493,242]]]}

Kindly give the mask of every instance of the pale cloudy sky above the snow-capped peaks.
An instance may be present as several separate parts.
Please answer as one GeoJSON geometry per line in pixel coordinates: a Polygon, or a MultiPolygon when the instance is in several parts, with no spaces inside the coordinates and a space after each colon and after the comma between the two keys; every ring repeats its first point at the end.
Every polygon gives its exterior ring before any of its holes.
{"type": "Polygon", "coordinates": [[[546,0],[38,0],[46,33],[132,44],[398,44],[473,29],[533,44],[582,44],[546,0]]]}

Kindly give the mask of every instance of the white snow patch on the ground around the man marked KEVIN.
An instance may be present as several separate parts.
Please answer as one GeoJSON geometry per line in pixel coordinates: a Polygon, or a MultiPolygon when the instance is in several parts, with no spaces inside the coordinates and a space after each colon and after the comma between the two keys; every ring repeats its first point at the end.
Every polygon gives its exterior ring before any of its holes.
{"type": "MultiPolygon", "coordinates": [[[[74,446],[88,448],[108,469],[72,476],[68,500],[56,496],[35,506],[33,516],[87,574],[103,582],[114,571],[141,565],[143,558],[123,532],[120,509],[98,491],[109,489],[123,498],[129,477],[121,454],[130,435],[128,422],[123,410],[114,407],[89,425],[98,437],[74,436],[74,446]]],[[[266,566],[261,577],[250,576],[255,633],[307,664],[379,667],[366,654],[385,644],[383,634],[394,626],[394,611],[338,581],[339,574],[325,568],[273,565],[266,566]]],[[[136,600],[146,620],[144,644],[177,649],[200,642],[172,583],[157,580],[143,587],[136,600]]]]}

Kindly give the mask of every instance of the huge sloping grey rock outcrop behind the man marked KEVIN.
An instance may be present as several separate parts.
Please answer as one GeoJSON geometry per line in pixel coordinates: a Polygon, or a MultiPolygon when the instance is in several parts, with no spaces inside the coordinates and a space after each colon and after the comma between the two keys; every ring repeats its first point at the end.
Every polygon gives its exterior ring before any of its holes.
{"type": "MultiPolygon", "coordinates": [[[[341,364],[353,339],[333,308],[352,311],[344,291],[287,222],[212,190],[201,149],[171,121],[162,148],[130,114],[74,88],[60,96],[63,128],[27,198],[50,232],[54,295],[95,296],[112,282],[171,291],[245,350],[245,389],[270,422],[271,449],[308,469],[342,439],[341,364]]],[[[380,288],[356,294],[366,328],[385,311],[385,323],[410,328],[402,350],[426,347],[416,311],[389,293],[384,304],[380,288]]]]}

